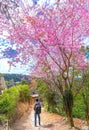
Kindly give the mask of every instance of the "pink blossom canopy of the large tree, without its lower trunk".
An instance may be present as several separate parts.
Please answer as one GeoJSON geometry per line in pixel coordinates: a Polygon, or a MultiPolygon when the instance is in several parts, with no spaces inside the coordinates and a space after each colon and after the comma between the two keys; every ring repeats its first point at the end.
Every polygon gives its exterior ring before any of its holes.
{"type": "MultiPolygon", "coordinates": [[[[44,63],[46,66],[49,63],[53,72],[60,70],[63,76],[67,73],[69,82],[70,69],[73,71],[74,68],[86,66],[84,55],[80,51],[83,46],[83,38],[88,36],[89,29],[89,11],[88,4],[86,6],[85,1],[68,0],[63,3],[57,2],[51,7],[44,6],[43,8],[32,6],[27,7],[25,12],[22,10],[22,5],[20,5],[21,12],[19,11],[19,13],[21,13],[21,18],[18,19],[20,22],[15,22],[14,28],[8,20],[4,22],[4,24],[7,24],[6,30],[9,34],[11,33],[11,35],[7,36],[8,39],[15,41],[17,50],[21,52],[20,56],[14,57],[13,62],[21,61],[22,64],[26,64],[31,55],[37,63],[34,72],[45,75],[42,68],[44,63]],[[28,9],[29,11],[33,9],[34,16],[29,14],[28,9]],[[85,19],[87,20],[85,21],[85,19]],[[9,26],[11,26],[10,29],[9,26]],[[46,59],[48,62],[45,61],[46,59]]],[[[16,13],[15,11],[12,15],[14,21],[17,20],[16,17],[14,18],[16,13]]],[[[18,17],[18,14],[16,16],[18,17]]],[[[2,17],[2,20],[6,21],[4,17],[2,17]]],[[[2,30],[5,30],[3,24],[1,27],[2,30]]],[[[6,57],[8,56],[6,55],[6,57]]]]}

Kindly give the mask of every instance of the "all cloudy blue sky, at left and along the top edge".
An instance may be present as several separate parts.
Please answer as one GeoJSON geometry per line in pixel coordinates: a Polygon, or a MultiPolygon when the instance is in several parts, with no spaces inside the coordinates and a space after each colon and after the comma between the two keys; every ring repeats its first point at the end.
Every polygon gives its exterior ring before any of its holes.
{"type": "MultiPolygon", "coordinates": [[[[23,4],[25,7],[26,5],[37,5],[37,4],[49,4],[49,0],[20,0],[20,4],[23,4]]],[[[54,3],[54,0],[50,0],[51,3],[54,3]]],[[[15,74],[29,74],[31,73],[31,68],[33,67],[33,61],[31,61],[28,65],[20,65],[19,63],[16,65],[16,67],[12,66],[10,68],[8,64],[8,59],[2,57],[2,51],[4,51],[5,48],[11,47],[11,43],[6,41],[6,37],[8,36],[8,33],[6,30],[3,31],[3,36],[0,35],[0,73],[15,73],[15,74]],[[1,41],[1,38],[3,39],[1,41]]],[[[5,54],[7,53],[12,58],[9,58],[9,60],[14,58],[15,55],[15,48],[14,50],[6,50],[5,54]],[[12,52],[11,52],[12,51],[12,52]],[[14,52],[14,53],[13,53],[14,52]],[[12,54],[11,54],[12,53],[12,54]]]]}

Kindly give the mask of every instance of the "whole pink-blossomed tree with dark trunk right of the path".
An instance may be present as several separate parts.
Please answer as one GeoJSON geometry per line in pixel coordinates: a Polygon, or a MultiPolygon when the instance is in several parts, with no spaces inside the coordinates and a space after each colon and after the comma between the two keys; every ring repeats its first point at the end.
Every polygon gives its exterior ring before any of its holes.
{"type": "MultiPolygon", "coordinates": [[[[25,13],[20,12],[20,22],[15,22],[12,16],[14,26],[7,27],[10,34],[8,39],[14,41],[17,50],[21,51],[17,62],[26,63],[32,57],[36,62],[33,68],[35,74],[45,79],[48,76],[57,77],[58,89],[63,96],[71,126],[74,126],[71,90],[75,72],[82,72],[88,65],[81,50],[84,38],[89,36],[88,8],[87,0],[65,0],[48,7],[31,7],[25,13]],[[29,11],[33,11],[33,15],[29,11]]],[[[54,82],[56,83],[55,78],[54,82]]]]}

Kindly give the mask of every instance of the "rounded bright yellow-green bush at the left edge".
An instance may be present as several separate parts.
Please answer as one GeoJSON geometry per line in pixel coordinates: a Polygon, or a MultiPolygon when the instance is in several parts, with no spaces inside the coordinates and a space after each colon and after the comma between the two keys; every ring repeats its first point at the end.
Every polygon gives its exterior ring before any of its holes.
{"type": "Polygon", "coordinates": [[[19,91],[13,87],[3,92],[0,97],[0,113],[10,116],[15,110],[19,99],[19,91]]]}

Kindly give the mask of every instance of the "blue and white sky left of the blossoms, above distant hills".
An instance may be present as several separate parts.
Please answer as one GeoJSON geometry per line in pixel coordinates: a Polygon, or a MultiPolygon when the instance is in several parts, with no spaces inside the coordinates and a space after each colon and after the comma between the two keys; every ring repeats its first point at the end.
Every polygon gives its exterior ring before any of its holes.
{"type": "Polygon", "coordinates": [[[6,40],[5,37],[0,36],[0,73],[15,73],[15,74],[30,74],[34,67],[34,62],[31,59],[26,65],[21,65],[21,63],[15,63],[15,66],[8,64],[8,61],[14,60],[14,58],[19,54],[16,47],[10,41],[6,40]],[[8,57],[8,59],[7,59],[8,57]]]}

